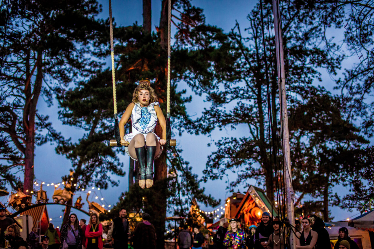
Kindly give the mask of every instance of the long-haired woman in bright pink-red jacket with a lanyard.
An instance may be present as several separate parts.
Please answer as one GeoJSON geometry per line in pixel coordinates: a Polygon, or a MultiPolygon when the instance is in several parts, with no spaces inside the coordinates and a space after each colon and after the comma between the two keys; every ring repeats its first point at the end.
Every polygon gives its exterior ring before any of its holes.
{"type": "Polygon", "coordinates": [[[97,214],[92,214],[88,226],[86,227],[86,244],[87,249],[102,249],[102,225],[99,222],[97,214]]]}

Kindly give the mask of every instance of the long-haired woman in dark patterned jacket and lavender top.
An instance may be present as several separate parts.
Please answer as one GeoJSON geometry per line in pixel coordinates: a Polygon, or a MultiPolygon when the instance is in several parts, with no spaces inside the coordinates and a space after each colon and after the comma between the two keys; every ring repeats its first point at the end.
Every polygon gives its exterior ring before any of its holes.
{"type": "Polygon", "coordinates": [[[61,249],[81,249],[82,228],[76,214],[70,214],[69,220],[61,228],[61,249]]]}

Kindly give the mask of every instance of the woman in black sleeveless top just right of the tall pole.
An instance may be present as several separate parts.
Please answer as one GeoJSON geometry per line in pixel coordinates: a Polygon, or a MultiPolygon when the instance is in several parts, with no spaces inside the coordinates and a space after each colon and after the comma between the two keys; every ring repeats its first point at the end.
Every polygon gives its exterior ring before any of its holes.
{"type": "Polygon", "coordinates": [[[312,249],[317,243],[318,234],[310,228],[312,222],[308,217],[304,217],[301,220],[301,224],[303,225],[303,230],[296,232],[296,248],[312,249]]]}

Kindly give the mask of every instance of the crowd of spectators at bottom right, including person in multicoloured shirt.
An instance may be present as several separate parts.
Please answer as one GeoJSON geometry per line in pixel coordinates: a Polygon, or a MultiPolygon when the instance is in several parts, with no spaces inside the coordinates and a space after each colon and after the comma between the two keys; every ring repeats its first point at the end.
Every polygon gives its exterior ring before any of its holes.
{"type": "MultiPolygon", "coordinates": [[[[213,237],[214,249],[286,249],[289,248],[289,233],[296,234],[297,249],[359,249],[355,241],[350,239],[348,229],[341,227],[337,242],[330,242],[324,221],[316,215],[295,220],[294,229],[283,231],[283,222],[278,217],[272,219],[268,212],[264,212],[261,222],[251,225],[246,230],[242,224],[233,218],[221,218],[220,226],[213,237]]],[[[204,237],[198,227],[193,228],[193,234],[184,226],[178,236],[181,249],[201,249],[204,237]]],[[[211,247],[209,247],[211,248],[211,247]]]]}

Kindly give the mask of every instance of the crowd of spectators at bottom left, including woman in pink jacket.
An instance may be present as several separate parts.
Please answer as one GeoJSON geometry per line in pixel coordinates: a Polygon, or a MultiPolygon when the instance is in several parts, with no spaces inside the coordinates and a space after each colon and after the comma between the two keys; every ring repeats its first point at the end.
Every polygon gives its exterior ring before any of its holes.
{"type": "MultiPolygon", "coordinates": [[[[149,214],[142,215],[131,233],[131,244],[134,249],[155,249],[156,231],[150,223],[149,214]]],[[[76,214],[70,214],[68,222],[61,227],[61,231],[52,223],[43,236],[33,227],[27,235],[26,241],[21,237],[18,224],[6,217],[6,209],[0,206],[0,248],[11,249],[124,249],[128,248],[129,221],[125,208],[121,208],[119,216],[110,225],[103,226],[97,214],[91,214],[86,220],[79,220],[76,214]]]]}

